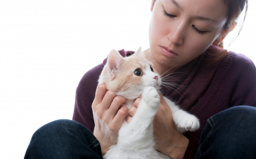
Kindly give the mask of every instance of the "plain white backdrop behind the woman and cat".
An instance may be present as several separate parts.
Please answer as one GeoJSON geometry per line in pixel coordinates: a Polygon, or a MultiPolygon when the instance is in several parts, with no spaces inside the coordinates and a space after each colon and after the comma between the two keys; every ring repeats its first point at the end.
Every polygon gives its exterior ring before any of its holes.
{"type": "MultiPolygon", "coordinates": [[[[150,3],[0,1],[0,158],[23,158],[39,127],[72,119],[80,79],[110,50],[148,48],[150,3]]],[[[241,35],[228,50],[256,63],[256,2],[249,3],[241,35]]]]}

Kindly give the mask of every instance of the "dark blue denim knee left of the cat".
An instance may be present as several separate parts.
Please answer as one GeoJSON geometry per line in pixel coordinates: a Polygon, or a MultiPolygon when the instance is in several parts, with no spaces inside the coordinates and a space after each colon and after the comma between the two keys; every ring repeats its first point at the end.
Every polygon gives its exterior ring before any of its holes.
{"type": "Polygon", "coordinates": [[[39,128],[24,158],[102,158],[100,143],[82,124],[61,119],[39,128]]]}

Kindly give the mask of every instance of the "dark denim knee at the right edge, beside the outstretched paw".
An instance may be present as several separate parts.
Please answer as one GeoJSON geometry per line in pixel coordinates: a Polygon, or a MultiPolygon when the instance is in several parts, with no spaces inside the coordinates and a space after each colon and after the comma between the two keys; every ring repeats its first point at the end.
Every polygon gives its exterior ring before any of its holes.
{"type": "Polygon", "coordinates": [[[256,108],[234,106],[207,122],[197,158],[256,158],[256,108]]]}

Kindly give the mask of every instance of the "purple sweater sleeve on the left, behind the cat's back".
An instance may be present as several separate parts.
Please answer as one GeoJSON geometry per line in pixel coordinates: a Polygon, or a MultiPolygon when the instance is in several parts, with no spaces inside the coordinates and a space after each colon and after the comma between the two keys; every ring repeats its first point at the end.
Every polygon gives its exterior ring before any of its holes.
{"type": "Polygon", "coordinates": [[[98,85],[98,77],[103,67],[104,65],[100,64],[86,72],[76,89],[73,120],[83,124],[92,132],[94,129],[92,102],[98,85]]]}

